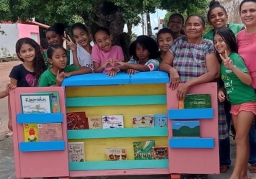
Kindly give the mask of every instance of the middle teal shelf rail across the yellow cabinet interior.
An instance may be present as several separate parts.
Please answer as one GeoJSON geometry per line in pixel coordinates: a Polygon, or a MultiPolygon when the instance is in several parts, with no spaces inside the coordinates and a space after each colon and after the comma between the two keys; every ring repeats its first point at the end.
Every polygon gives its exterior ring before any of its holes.
{"type": "Polygon", "coordinates": [[[68,130],[68,139],[166,137],[167,127],[68,130]]]}

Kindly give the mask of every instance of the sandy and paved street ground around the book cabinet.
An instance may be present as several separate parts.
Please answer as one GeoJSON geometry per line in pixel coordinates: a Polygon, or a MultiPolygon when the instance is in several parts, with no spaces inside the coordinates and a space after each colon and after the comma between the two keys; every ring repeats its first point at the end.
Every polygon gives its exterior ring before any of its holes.
{"type": "MultiPolygon", "coordinates": [[[[6,83],[9,82],[9,72],[14,65],[18,65],[20,62],[0,63],[0,91],[4,90],[6,83]]],[[[14,158],[13,158],[13,146],[12,136],[6,137],[6,133],[9,133],[7,129],[8,122],[8,110],[7,110],[7,98],[0,99],[0,118],[3,123],[0,126],[0,179],[16,179],[14,170],[14,158]]],[[[234,162],[235,147],[234,141],[231,142],[231,160],[234,162]]],[[[228,179],[233,170],[233,165],[229,169],[228,173],[222,175],[209,175],[208,179],[228,179]]],[[[250,174],[252,177],[252,174],[250,174]]],[[[120,176],[120,177],[101,177],[101,178],[86,178],[86,179],[169,179],[169,175],[151,175],[151,176],[120,176]]],[[[77,178],[82,179],[82,178],[77,178]]],[[[84,178],[85,179],[85,178],[84,178]]]]}

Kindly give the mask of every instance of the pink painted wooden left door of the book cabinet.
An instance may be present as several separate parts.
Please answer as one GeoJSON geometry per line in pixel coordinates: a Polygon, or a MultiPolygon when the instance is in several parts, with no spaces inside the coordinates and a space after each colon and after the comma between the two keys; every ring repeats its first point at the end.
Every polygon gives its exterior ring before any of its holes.
{"type": "Polygon", "coordinates": [[[66,104],[65,91],[63,87],[47,88],[16,88],[10,92],[14,160],[17,178],[37,178],[37,177],[59,177],[69,176],[69,157],[67,146],[67,124],[66,124],[66,104]],[[22,124],[17,124],[16,114],[22,113],[19,95],[22,93],[58,91],[60,96],[61,112],[63,113],[63,139],[65,140],[64,151],[53,152],[19,152],[19,142],[24,142],[22,124]]]}

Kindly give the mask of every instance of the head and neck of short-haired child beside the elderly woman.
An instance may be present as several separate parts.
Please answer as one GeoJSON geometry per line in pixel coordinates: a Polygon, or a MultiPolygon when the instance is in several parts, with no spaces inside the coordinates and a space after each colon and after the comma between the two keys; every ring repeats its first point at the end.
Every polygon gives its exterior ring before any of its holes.
{"type": "Polygon", "coordinates": [[[164,55],[169,50],[169,45],[173,42],[172,30],[168,28],[160,29],[157,33],[156,40],[160,48],[160,54],[157,60],[161,63],[164,55]]]}

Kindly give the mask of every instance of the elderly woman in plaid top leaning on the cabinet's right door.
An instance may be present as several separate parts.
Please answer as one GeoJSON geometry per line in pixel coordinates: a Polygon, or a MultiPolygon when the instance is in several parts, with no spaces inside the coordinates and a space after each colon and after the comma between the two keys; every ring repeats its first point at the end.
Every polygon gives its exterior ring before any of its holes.
{"type": "MultiPolygon", "coordinates": [[[[187,37],[177,38],[169,47],[160,70],[170,74],[169,88],[177,88],[177,97],[183,100],[187,91],[201,83],[208,83],[220,77],[220,65],[214,54],[213,42],[204,40],[203,17],[192,15],[185,22],[187,37]],[[197,67],[197,68],[195,68],[197,67]]],[[[183,178],[207,178],[207,175],[184,175],[183,178]]]]}

